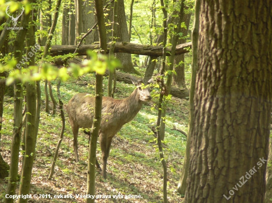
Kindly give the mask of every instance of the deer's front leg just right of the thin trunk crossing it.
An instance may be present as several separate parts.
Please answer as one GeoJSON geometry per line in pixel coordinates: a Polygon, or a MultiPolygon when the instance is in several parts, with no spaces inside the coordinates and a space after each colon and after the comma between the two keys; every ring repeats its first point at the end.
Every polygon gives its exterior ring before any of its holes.
{"type": "Polygon", "coordinates": [[[103,178],[106,178],[106,168],[107,168],[107,159],[109,156],[109,148],[111,145],[112,138],[107,138],[106,135],[99,135],[99,142],[100,142],[100,148],[102,152],[102,160],[103,160],[103,169],[102,169],[102,176],[103,178]]]}

